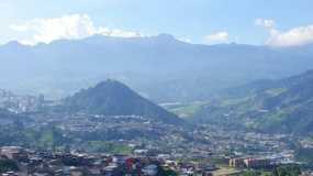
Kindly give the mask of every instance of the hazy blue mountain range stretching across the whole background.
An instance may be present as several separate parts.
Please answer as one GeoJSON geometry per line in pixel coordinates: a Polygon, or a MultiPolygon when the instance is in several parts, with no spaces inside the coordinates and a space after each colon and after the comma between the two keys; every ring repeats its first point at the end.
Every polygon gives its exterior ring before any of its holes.
{"type": "Polygon", "coordinates": [[[167,34],[94,35],[35,46],[11,42],[0,46],[0,84],[19,92],[60,98],[113,78],[158,102],[206,100],[221,88],[313,68],[312,48],[195,45],[167,34]]]}

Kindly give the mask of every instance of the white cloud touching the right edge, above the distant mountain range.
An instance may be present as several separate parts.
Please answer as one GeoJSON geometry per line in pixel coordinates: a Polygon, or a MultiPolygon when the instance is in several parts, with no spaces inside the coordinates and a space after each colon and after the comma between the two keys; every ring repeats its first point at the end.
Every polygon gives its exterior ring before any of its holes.
{"type": "Polygon", "coordinates": [[[313,43],[313,25],[279,31],[276,29],[273,20],[257,19],[255,24],[264,26],[269,32],[270,36],[266,44],[270,46],[301,46],[313,43]]]}

